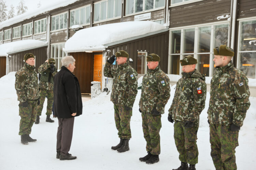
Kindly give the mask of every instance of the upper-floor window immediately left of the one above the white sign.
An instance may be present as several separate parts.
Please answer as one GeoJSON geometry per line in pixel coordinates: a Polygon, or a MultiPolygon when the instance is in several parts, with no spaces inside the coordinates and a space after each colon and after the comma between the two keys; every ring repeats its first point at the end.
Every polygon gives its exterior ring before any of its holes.
{"type": "Polygon", "coordinates": [[[107,0],[94,4],[94,21],[121,16],[122,0],[107,0]]]}

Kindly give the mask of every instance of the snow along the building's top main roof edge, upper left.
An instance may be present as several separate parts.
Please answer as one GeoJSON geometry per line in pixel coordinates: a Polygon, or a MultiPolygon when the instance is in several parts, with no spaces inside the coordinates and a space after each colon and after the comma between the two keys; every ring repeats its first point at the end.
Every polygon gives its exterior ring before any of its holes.
{"type": "Polygon", "coordinates": [[[57,9],[59,7],[67,6],[67,5],[72,4],[76,1],[79,1],[79,0],[56,0],[56,1],[52,1],[52,3],[41,6],[40,8],[34,8],[33,10],[27,11],[23,14],[17,15],[15,17],[11,18],[11,19],[8,19],[8,20],[5,20],[5,21],[1,22],[0,23],[0,29],[2,29],[4,27],[11,26],[15,23],[24,21],[26,19],[35,17],[37,15],[44,14],[44,13],[49,12],[51,10],[57,9]]]}

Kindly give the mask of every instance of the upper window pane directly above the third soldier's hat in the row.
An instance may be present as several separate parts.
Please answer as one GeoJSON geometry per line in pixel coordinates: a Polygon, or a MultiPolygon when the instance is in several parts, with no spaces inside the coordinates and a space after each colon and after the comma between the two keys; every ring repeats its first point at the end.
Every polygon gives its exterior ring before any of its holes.
{"type": "Polygon", "coordinates": [[[194,53],[195,29],[187,29],[184,31],[184,53],[194,53]]]}

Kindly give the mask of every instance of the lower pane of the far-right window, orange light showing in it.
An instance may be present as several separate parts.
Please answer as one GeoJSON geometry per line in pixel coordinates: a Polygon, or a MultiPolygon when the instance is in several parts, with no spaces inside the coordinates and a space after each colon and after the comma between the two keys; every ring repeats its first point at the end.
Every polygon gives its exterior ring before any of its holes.
{"type": "Polygon", "coordinates": [[[256,52],[239,53],[240,70],[244,72],[247,78],[255,78],[256,52]]]}

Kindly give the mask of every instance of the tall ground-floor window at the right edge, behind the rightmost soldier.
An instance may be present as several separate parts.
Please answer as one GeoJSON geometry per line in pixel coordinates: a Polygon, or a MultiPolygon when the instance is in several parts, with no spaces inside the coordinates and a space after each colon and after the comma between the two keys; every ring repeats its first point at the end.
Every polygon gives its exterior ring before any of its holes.
{"type": "Polygon", "coordinates": [[[238,68],[247,78],[256,78],[256,20],[240,21],[238,68]]]}

